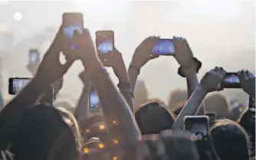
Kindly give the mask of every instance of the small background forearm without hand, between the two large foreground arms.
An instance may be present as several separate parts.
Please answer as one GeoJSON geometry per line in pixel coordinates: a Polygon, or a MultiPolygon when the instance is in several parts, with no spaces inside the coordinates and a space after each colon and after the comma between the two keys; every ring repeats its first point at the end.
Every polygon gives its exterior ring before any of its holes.
{"type": "Polygon", "coordinates": [[[74,111],[75,118],[80,121],[84,116],[87,116],[89,110],[89,95],[90,95],[90,83],[84,87],[84,90],[77,103],[77,107],[74,111]]]}

